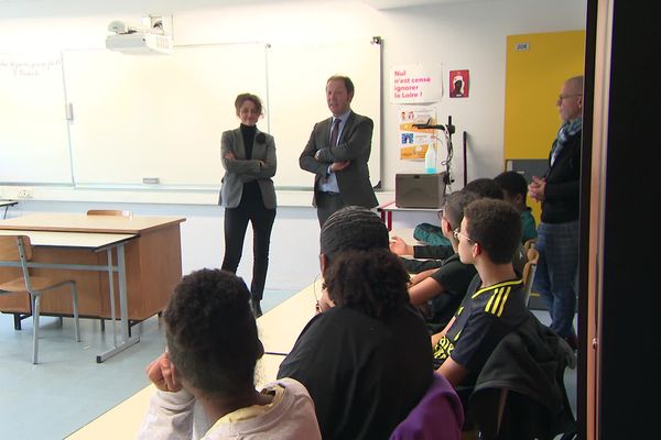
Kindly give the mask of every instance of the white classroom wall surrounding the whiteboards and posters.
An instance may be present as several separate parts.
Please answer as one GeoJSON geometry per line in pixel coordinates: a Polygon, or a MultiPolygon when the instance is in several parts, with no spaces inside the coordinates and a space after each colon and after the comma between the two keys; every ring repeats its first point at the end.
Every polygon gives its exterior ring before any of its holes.
{"type": "MultiPolygon", "coordinates": [[[[72,2],[65,3],[71,6],[72,2]]],[[[91,2],[87,2],[89,9],[91,2]]],[[[470,70],[470,97],[445,99],[438,105],[440,120],[453,117],[455,158],[453,172],[460,188],[464,164],[462,132],[468,133],[468,179],[494,176],[502,169],[505,118],[506,36],[510,34],[553,32],[585,28],[586,3],[575,0],[494,0],[394,10],[375,10],[360,2],[275,2],[243,7],[209,7],[207,2],[170,1],[166,9],[142,10],[141,2],[121,2],[121,10],[109,11],[108,4],[96,11],[68,13],[40,10],[44,2],[0,3],[0,52],[104,47],[106,26],[111,20],[139,21],[149,13],[174,15],[175,44],[223,42],[338,41],[383,38],[383,87],[392,65],[440,62],[444,80],[449,69],[470,70]],[[181,3],[181,6],[180,6],[181,3]],[[206,3],[206,4],[203,4],[206,3]],[[192,7],[191,4],[194,4],[192,7]],[[22,14],[17,8],[23,8],[22,14]],[[30,10],[28,10],[30,9],[30,10]],[[4,13],[8,12],[8,13],[4,13]],[[10,13],[11,12],[11,13],[10,13]]],[[[150,6],[150,3],[144,3],[150,6]]],[[[68,8],[67,10],[73,10],[68,8]]],[[[305,63],[302,59],[301,63],[305,63]]],[[[295,68],[295,66],[292,66],[295,68]]],[[[319,85],[319,100],[324,99],[319,85]]],[[[360,94],[360,90],[356,91],[360,94]]],[[[388,90],[383,90],[387,96],[388,90]]],[[[292,99],[295,85],[292,84],[292,99]]],[[[1,103],[0,103],[1,105],[1,103]]],[[[302,110],[304,111],[304,110],[302,110]]],[[[321,114],[324,118],[325,114],[321,114]]],[[[292,116],[295,118],[295,114],[292,116]]],[[[420,163],[401,163],[398,152],[397,107],[382,103],[383,164],[382,184],[392,191],[394,175],[402,170],[422,170],[420,163]]],[[[236,121],[228,121],[228,125],[236,121]]],[[[302,130],[311,130],[303,128],[302,130]]],[[[279,147],[284,147],[279,145],[279,147]]],[[[303,148],[303,145],[286,146],[303,148]]],[[[0,160],[1,160],[0,152],[0,160]]],[[[311,177],[312,178],[312,177],[311,177]]],[[[0,197],[12,197],[15,188],[0,187],[0,197]]],[[[93,206],[131,209],[134,213],[181,215],[184,273],[202,266],[219,266],[223,258],[223,210],[204,206],[216,200],[215,194],[178,195],[177,205],[139,204],[143,195],[111,191],[72,191],[67,188],[34,188],[34,199],[12,208],[11,216],[33,211],[79,211],[93,206]],[[77,201],[40,201],[62,199],[77,201]],[[116,200],[94,204],[86,200],[116,200]],[[203,205],[187,205],[195,201],[203,205]],[[126,202],[126,204],[123,204],[126,202]]],[[[392,198],[391,193],[381,199],[392,198]]],[[[313,208],[305,206],[311,197],[279,195],[281,208],[271,242],[271,266],[268,288],[297,288],[312,280],[317,272],[318,226],[313,208]],[[286,205],[286,206],[282,206],[286,205]],[[304,205],[295,207],[295,205],[304,205]]],[[[174,200],[165,197],[164,200],[174,200]]],[[[412,228],[420,221],[434,221],[430,216],[395,217],[395,227],[412,228]]],[[[250,276],[251,238],[239,273],[250,276]]]]}

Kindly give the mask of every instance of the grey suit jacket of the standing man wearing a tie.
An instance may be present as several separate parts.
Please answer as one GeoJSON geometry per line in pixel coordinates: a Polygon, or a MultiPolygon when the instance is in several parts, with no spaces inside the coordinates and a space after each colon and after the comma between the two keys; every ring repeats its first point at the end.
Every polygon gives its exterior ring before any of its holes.
{"type": "MultiPolygon", "coordinates": [[[[336,173],[339,194],[346,206],[357,205],[373,208],[378,205],[369,180],[367,163],[371,153],[371,135],[375,123],[371,119],[353,111],[345,123],[337,145],[330,147],[330,124],[333,118],[314,124],[310,141],[299,157],[302,169],[314,173],[316,194],[319,178],[326,177],[333,162],[350,161],[350,165],[336,173]],[[318,161],[314,158],[319,151],[318,161]]],[[[316,196],[312,200],[316,206],[316,196]]]]}

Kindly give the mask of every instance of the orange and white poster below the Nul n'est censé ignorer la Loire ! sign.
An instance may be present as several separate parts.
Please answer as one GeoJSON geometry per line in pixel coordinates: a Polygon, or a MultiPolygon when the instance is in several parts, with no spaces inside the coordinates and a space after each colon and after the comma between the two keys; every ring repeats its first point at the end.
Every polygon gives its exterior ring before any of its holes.
{"type": "Polygon", "coordinates": [[[434,124],[436,108],[434,106],[400,106],[398,114],[400,158],[423,160],[430,146],[436,147],[434,129],[420,129],[414,124],[434,124]]]}

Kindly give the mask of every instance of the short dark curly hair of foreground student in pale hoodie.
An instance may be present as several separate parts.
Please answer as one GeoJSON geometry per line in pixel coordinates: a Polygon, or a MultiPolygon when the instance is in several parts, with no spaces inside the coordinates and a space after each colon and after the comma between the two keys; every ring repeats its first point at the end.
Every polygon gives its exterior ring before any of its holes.
{"type": "Polygon", "coordinates": [[[220,270],[192,272],[174,288],[163,319],[170,358],[191,385],[228,396],[253,387],[263,348],[241,278],[220,270]]]}

